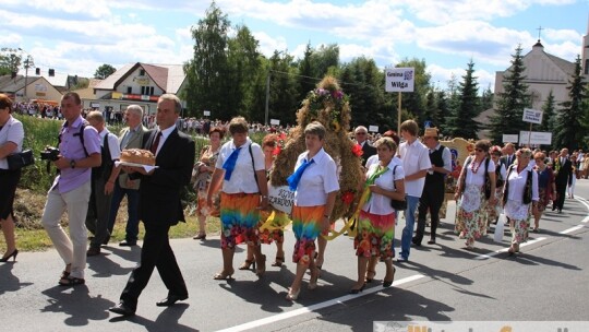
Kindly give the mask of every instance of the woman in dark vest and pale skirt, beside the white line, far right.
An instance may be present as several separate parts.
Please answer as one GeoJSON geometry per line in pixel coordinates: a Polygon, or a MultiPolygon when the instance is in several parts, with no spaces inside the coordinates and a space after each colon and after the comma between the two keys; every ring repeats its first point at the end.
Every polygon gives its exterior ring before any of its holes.
{"type": "Polygon", "coordinates": [[[509,254],[518,252],[519,244],[528,239],[530,217],[538,213],[538,173],[529,165],[531,155],[529,149],[518,150],[516,163],[507,170],[503,204],[512,230],[512,246],[507,251],[509,254]]]}

